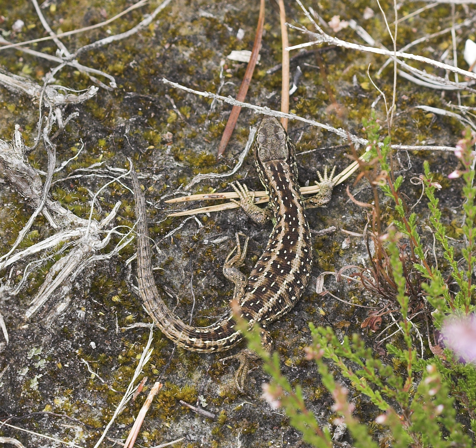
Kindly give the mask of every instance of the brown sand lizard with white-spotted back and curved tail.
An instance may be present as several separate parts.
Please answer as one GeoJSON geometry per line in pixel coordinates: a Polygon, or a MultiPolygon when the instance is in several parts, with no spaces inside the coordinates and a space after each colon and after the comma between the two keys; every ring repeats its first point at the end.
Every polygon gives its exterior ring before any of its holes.
{"type": "MultiPolygon", "coordinates": [[[[258,322],[261,326],[263,346],[270,351],[273,347],[270,324],[296,304],[310,278],[312,240],[305,208],[327,204],[335,180],[332,179],[334,171],[327,178],[326,170],[324,178],[319,174],[320,191],[309,199],[302,198],[297,183],[294,145],[274,117],[265,117],[259,125],[254,153],[259,179],[270,198],[268,206],[262,209],[254,204],[253,193],[248,192],[246,185],[236,183],[232,186],[240,199],[237,203],[249,218],[259,224],[271,219],[274,227],[268,245],[248,279],[238,269],[246,256],[248,238],[242,249],[237,234],[237,245],[224,263],[223,275],[235,284],[233,298],[238,301],[242,316],[250,325],[258,322]]],[[[162,333],[179,347],[196,352],[219,352],[236,346],[242,335],[234,329],[231,310],[228,316],[213,325],[194,327],[175,316],[160,297],[152,271],[145,199],[134,170],[132,180],[137,215],[138,284],[147,312],[162,333]]],[[[236,381],[242,390],[249,360],[257,356],[244,349],[238,355],[228,356],[234,357],[240,360],[236,381]]]]}

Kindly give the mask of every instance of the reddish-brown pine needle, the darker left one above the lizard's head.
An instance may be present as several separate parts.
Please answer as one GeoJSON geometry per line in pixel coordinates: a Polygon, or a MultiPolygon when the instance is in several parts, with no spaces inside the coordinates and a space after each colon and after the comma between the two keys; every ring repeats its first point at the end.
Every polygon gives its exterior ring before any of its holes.
{"type": "MultiPolygon", "coordinates": [[[[238,91],[237,100],[245,101],[246,94],[248,92],[249,83],[253,77],[253,72],[255,71],[256,63],[258,62],[259,50],[261,49],[261,37],[263,36],[263,26],[265,23],[265,0],[261,0],[259,5],[259,17],[258,17],[258,26],[256,28],[255,42],[253,44],[253,50],[251,51],[251,57],[249,58],[248,67],[246,68],[245,77],[241,82],[241,86],[238,91]]],[[[238,121],[239,112],[241,111],[240,106],[233,106],[230,116],[228,117],[227,126],[223,135],[221,137],[220,145],[218,146],[218,158],[223,155],[225,149],[227,148],[228,141],[230,140],[231,134],[235,129],[235,125],[238,121]]]]}

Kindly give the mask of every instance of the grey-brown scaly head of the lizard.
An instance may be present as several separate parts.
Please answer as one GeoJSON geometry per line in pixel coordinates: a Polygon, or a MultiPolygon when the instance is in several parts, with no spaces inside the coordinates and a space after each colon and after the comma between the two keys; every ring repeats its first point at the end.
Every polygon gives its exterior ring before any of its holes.
{"type": "Polygon", "coordinates": [[[294,159],[294,146],[288,133],[275,117],[265,116],[258,127],[255,146],[256,158],[261,163],[294,159]]]}

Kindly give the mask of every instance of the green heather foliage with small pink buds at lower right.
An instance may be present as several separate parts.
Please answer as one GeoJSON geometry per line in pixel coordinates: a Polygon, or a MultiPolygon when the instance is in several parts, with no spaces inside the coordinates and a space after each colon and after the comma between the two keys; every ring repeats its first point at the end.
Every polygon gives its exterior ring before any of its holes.
{"type": "MultiPolygon", "coordinates": [[[[385,233],[380,228],[377,202],[372,210],[376,251],[374,277],[380,282],[386,279],[387,289],[382,296],[392,297],[399,307],[401,320],[397,325],[403,333],[403,343],[399,346],[387,344],[393,365],[386,365],[357,334],[344,336],[341,341],[330,327],[315,327],[311,323],[313,343],[306,348],[306,357],[315,360],[322,384],[334,399],[332,410],[340,416],[334,423],[347,425],[355,447],[377,448],[378,443],[371,436],[376,427],[387,432],[390,444],[396,448],[472,447],[476,432],[476,368],[473,364],[459,362],[458,356],[440,346],[430,346],[438,356],[422,359],[410,336],[414,324],[408,315],[409,301],[415,291],[422,291],[419,300],[424,300],[427,310],[432,311],[436,329],[441,328],[448,316],[465,316],[475,310],[475,285],[471,278],[476,263],[473,255],[476,187],[473,186],[475,171],[471,169],[475,137],[466,130],[464,138],[458,142],[460,153],[456,155],[465,169],[450,175],[462,176],[465,182],[463,233],[466,244],[460,249],[462,260],[459,262],[456,248],[446,237],[445,226],[440,221],[435,191],[441,185],[433,180],[427,162],[425,174],[420,176],[430,212],[429,224],[447,262],[439,260],[436,264],[434,258],[426,257],[418,234],[422,224],[419,217],[411,212],[398,192],[403,178],[399,176],[392,180],[389,174],[390,138],[380,139],[381,128],[374,114],[370,120],[364,120],[364,126],[371,157],[370,162],[361,167],[362,172],[375,188],[391,198],[396,212],[385,233]],[[381,260],[387,260],[387,265],[381,264],[381,260]],[[443,271],[438,265],[445,266],[443,271]],[[375,422],[365,425],[353,416],[355,406],[347,400],[348,390],[336,381],[328,366],[332,370],[337,368],[357,393],[370,399],[379,414],[375,422]],[[456,418],[455,407],[466,422],[470,422],[471,428],[456,418]]],[[[378,194],[375,197],[378,199],[378,194]]],[[[247,336],[248,347],[261,356],[265,371],[272,377],[270,384],[263,387],[264,397],[272,407],[282,407],[286,411],[291,425],[303,433],[304,440],[314,447],[332,448],[336,442],[331,441],[329,430],[321,428],[317,418],[307,409],[302,388],[291,386],[281,373],[277,353],[270,355],[263,350],[259,328],[255,326],[248,330],[246,321],[239,318],[237,312],[235,316],[238,328],[247,336]]]]}

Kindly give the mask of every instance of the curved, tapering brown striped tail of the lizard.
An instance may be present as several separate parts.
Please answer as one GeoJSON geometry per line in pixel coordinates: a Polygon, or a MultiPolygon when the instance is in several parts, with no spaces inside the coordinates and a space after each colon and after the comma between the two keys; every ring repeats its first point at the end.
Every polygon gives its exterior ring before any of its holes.
{"type": "Polygon", "coordinates": [[[179,347],[196,352],[228,350],[242,338],[241,333],[234,330],[235,322],[231,312],[211,326],[194,327],[175,316],[162,300],[152,270],[145,197],[134,166],[131,168],[137,218],[137,276],[144,307],[160,331],[179,347]]]}

